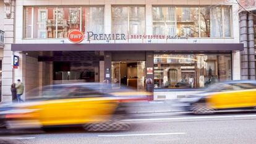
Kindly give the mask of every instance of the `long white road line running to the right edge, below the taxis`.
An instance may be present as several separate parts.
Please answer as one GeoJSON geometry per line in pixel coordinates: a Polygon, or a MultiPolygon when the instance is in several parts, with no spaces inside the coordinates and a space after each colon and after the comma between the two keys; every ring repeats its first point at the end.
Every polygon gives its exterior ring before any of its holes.
{"type": "Polygon", "coordinates": [[[151,118],[151,119],[126,119],[124,121],[170,121],[182,119],[216,119],[216,118],[237,118],[237,117],[256,117],[256,115],[236,115],[236,116],[196,116],[196,117],[174,117],[174,118],[151,118]]]}

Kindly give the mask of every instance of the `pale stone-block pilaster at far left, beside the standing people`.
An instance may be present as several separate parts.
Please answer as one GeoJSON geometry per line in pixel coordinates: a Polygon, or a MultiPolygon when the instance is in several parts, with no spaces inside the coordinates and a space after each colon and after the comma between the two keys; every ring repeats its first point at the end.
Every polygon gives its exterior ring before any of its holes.
{"type": "Polygon", "coordinates": [[[4,1],[4,57],[2,59],[2,96],[1,101],[12,101],[10,85],[14,82],[12,70],[11,44],[14,43],[15,1],[4,1]]]}

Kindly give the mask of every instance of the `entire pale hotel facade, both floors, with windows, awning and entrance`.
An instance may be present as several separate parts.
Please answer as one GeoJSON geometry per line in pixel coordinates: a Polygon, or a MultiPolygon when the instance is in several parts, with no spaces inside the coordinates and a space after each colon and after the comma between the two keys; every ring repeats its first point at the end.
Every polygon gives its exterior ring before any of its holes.
{"type": "Polygon", "coordinates": [[[106,80],[145,90],[151,78],[155,100],[241,79],[244,46],[233,1],[3,2],[2,101],[11,100],[17,79],[29,91],[106,80]],[[74,30],[83,33],[82,42],[69,40],[74,30]],[[13,56],[19,57],[17,67],[13,56]]]}

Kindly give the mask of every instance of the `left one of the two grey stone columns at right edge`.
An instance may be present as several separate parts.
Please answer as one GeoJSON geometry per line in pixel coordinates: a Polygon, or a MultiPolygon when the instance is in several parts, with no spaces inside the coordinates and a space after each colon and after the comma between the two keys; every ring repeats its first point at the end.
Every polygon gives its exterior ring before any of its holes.
{"type": "Polygon", "coordinates": [[[248,46],[247,46],[247,12],[241,12],[240,17],[240,41],[244,44],[244,51],[241,51],[241,79],[249,78],[248,72],[248,46]]]}

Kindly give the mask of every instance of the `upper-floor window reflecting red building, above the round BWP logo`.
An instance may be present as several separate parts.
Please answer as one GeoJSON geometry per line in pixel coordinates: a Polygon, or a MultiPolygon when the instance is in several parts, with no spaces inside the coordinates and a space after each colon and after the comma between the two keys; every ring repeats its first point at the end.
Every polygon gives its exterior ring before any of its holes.
{"type": "Polygon", "coordinates": [[[104,7],[25,7],[25,38],[67,38],[72,30],[104,33],[104,7]]]}

